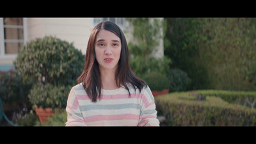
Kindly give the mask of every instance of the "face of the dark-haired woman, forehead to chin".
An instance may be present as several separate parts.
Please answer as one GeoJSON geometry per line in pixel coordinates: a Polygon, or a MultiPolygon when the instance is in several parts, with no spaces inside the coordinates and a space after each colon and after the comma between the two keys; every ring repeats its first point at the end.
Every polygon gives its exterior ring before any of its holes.
{"type": "Polygon", "coordinates": [[[113,70],[118,67],[121,53],[121,40],[110,31],[101,29],[96,36],[95,55],[100,71],[113,70]]]}

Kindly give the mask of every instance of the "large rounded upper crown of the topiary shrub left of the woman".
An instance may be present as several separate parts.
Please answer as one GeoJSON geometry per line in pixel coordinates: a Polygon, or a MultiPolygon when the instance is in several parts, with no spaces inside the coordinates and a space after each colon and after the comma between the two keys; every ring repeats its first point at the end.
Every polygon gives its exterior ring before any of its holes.
{"type": "Polygon", "coordinates": [[[85,56],[73,44],[52,36],[36,38],[20,49],[15,68],[24,81],[54,85],[74,84],[81,74],[85,56]]]}

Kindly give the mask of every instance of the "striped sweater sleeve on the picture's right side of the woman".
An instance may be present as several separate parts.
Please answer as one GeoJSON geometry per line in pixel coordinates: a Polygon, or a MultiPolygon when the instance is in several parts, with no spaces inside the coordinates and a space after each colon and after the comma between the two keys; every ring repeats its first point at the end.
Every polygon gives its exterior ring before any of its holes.
{"type": "Polygon", "coordinates": [[[159,126],[156,104],[150,88],[143,88],[140,102],[140,121],[138,126],[159,126]]]}

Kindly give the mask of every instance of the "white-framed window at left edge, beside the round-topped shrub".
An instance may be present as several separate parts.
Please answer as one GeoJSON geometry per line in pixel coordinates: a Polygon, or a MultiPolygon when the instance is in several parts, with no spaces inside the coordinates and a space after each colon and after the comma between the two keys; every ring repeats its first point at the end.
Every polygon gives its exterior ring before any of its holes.
{"type": "Polygon", "coordinates": [[[24,18],[0,18],[0,56],[17,54],[24,42],[24,18]]]}

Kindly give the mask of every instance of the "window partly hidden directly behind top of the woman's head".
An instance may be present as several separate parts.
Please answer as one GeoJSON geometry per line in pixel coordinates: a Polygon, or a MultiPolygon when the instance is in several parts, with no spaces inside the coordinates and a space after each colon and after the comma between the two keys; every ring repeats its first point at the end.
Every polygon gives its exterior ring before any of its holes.
{"type": "Polygon", "coordinates": [[[105,20],[110,20],[112,22],[115,22],[123,31],[127,27],[127,22],[125,18],[115,18],[115,17],[101,17],[101,18],[94,18],[93,19],[93,28],[99,24],[99,22],[103,22],[105,20]]]}

